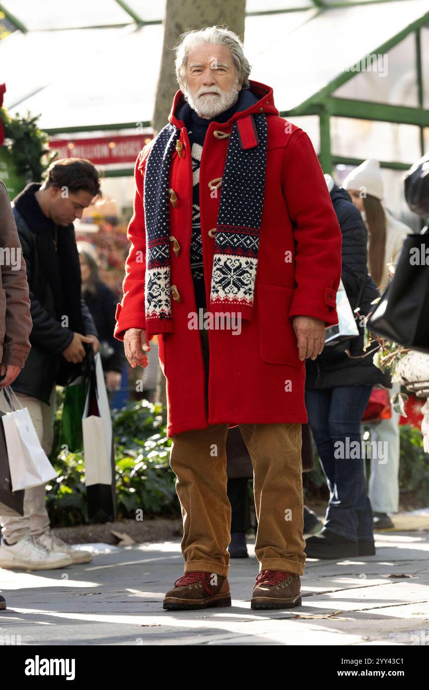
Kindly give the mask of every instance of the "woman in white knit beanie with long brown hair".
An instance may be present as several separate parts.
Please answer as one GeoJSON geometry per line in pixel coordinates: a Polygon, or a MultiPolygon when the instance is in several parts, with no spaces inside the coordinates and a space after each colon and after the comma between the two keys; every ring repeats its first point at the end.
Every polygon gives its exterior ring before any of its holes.
{"type": "MultiPolygon", "coordinates": [[[[379,161],[368,159],[352,170],[343,181],[343,188],[352,197],[368,229],[368,266],[375,284],[382,293],[390,280],[388,264],[396,264],[406,235],[411,228],[392,216],[383,205],[383,177],[379,161]]],[[[392,384],[392,393],[399,393],[399,384],[392,384]]],[[[371,460],[368,495],[374,513],[374,526],[393,526],[389,513],[399,510],[399,413],[392,407],[388,420],[371,424],[372,441],[387,441],[388,458],[381,463],[371,460]]],[[[384,447],[384,446],[381,446],[384,447]]]]}

